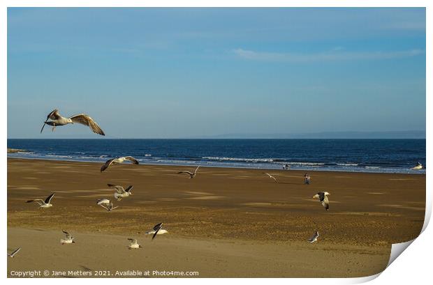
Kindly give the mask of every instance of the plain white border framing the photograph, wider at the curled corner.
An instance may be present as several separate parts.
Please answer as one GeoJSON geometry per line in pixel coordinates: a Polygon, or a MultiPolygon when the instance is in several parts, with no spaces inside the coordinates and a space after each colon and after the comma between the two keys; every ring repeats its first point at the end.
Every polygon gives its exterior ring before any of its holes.
{"type": "MultiPolygon", "coordinates": [[[[427,7],[427,40],[426,40],[426,59],[427,59],[427,88],[426,93],[432,93],[431,87],[431,78],[432,78],[432,1],[427,0],[394,0],[394,1],[386,1],[386,0],[308,0],[308,1],[277,1],[277,0],[267,0],[267,1],[246,1],[246,0],[210,0],[210,1],[198,1],[198,0],[183,0],[174,1],[174,0],[161,0],[161,1],[134,1],[134,0],[87,0],[87,1],[73,1],[73,0],[64,0],[64,1],[56,1],[56,0],[41,0],[41,1],[31,1],[31,0],[3,0],[0,2],[1,12],[0,12],[0,38],[1,38],[1,56],[0,56],[0,90],[1,90],[1,131],[3,133],[3,139],[1,141],[1,148],[6,150],[6,121],[7,121],[7,50],[6,50],[6,33],[7,33],[7,7],[135,7],[135,6],[147,6],[147,7],[242,7],[242,6],[252,6],[252,7],[427,7]],[[430,27],[430,29],[429,29],[430,27]]],[[[432,115],[429,114],[428,109],[430,107],[431,99],[429,96],[426,96],[426,116],[427,116],[427,160],[430,161],[432,157],[430,150],[430,137],[431,132],[428,128],[430,125],[430,121],[432,115]]],[[[6,151],[2,153],[2,161],[1,163],[1,178],[3,187],[3,191],[6,192],[7,189],[7,172],[6,172],[6,151]]],[[[428,164],[428,163],[427,163],[428,164]]],[[[272,279],[272,282],[287,284],[287,282],[295,282],[295,284],[316,284],[317,282],[321,282],[321,284],[354,284],[360,282],[367,282],[371,279],[374,279],[372,284],[407,284],[408,282],[421,282],[427,281],[430,278],[430,259],[432,256],[432,247],[430,245],[430,240],[432,238],[432,230],[427,228],[428,221],[430,220],[430,216],[432,213],[432,181],[427,176],[427,204],[426,204],[426,219],[423,230],[425,230],[419,238],[413,241],[411,245],[411,249],[406,250],[402,253],[402,257],[397,259],[396,262],[392,263],[389,268],[387,268],[382,274],[381,277],[378,275],[374,277],[363,277],[363,278],[355,278],[355,279],[272,279]]],[[[6,199],[3,199],[3,219],[1,219],[1,228],[6,229],[6,199]]],[[[1,244],[4,246],[7,244],[6,235],[4,234],[6,231],[3,231],[1,235],[1,244]]],[[[4,247],[3,247],[4,248],[4,247]]],[[[3,278],[6,279],[6,258],[3,258],[1,261],[3,267],[3,278]]],[[[83,280],[84,279],[80,279],[83,280]]],[[[152,280],[154,281],[154,280],[152,280]]],[[[163,279],[163,284],[166,283],[180,283],[180,284],[198,284],[199,282],[206,282],[210,284],[217,284],[221,281],[223,282],[249,282],[253,284],[261,283],[260,279],[163,279]]],[[[27,282],[24,279],[7,279],[6,282],[10,282],[13,284],[20,282],[27,282]]],[[[36,282],[36,284],[42,284],[42,282],[54,283],[60,282],[60,280],[56,279],[37,279],[32,282],[36,282]]],[[[61,282],[66,282],[67,284],[72,284],[75,282],[73,279],[62,279],[61,282]]],[[[87,279],[86,281],[87,282],[87,279]]],[[[115,279],[105,279],[104,282],[108,282],[108,284],[114,284],[116,282],[115,279]]],[[[142,279],[129,279],[127,282],[144,282],[142,279]]],[[[265,281],[266,282],[266,281],[265,281]]]]}

